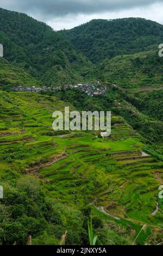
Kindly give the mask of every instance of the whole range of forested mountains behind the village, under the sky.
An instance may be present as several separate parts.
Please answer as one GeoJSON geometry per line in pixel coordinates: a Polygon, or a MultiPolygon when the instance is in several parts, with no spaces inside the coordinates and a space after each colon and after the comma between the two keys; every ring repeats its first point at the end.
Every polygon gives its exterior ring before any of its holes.
{"type": "Polygon", "coordinates": [[[102,80],[161,87],[156,49],[163,26],[140,18],[92,20],[55,32],[26,14],[0,9],[4,57],[45,86],[102,80]]]}

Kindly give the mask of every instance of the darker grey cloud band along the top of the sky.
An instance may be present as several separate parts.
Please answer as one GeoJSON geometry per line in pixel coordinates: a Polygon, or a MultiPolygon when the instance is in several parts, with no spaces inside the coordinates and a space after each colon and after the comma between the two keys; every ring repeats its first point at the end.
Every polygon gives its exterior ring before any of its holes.
{"type": "Polygon", "coordinates": [[[163,0],[0,0],[0,6],[40,16],[43,20],[70,14],[93,14],[147,7],[163,0]]]}

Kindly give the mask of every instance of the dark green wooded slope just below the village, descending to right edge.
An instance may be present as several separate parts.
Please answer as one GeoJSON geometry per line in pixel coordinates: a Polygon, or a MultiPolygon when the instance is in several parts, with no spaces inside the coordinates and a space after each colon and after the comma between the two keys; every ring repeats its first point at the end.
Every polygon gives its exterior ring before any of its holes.
{"type": "MultiPolygon", "coordinates": [[[[155,100],[151,93],[150,97],[145,97],[147,101],[144,103],[141,94],[136,94],[135,97],[128,92],[128,89],[115,87],[109,83],[105,83],[105,86],[107,87],[105,95],[94,97],[87,96],[77,89],[60,90],[55,93],[47,92],[47,94],[70,102],[80,111],[108,111],[109,109],[112,114],[123,117],[150,144],[163,141],[162,109],[160,107],[162,94],[159,90],[154,94],[155,100]]],[[[155,90],[153,90],[154,92],[155,90]]]]}

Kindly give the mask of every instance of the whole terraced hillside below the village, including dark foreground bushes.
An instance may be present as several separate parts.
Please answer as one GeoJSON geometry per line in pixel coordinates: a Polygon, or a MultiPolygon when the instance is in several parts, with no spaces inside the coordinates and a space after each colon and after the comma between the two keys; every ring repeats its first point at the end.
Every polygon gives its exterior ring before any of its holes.
{"type": "Polygon", "coordinates": [[[112,115],[109,139],[99,132],[60,134],[52,130],[52,113],[74,109],[70,103],[36,93],[0,92],[0,99],[2,244],[24,245],[31,234],[33,244],[58,244],[68,229],[67,245],[85,245],[90,203],[100,243],[108,244],[111,230],[115,244],[129,245],[145,222],[136,243],[154,230],[161,239],[162,162],[142,154],[141,136],[123,118],[112,115]],[[106,214],[99,218],[101,207],[106,214]]]}

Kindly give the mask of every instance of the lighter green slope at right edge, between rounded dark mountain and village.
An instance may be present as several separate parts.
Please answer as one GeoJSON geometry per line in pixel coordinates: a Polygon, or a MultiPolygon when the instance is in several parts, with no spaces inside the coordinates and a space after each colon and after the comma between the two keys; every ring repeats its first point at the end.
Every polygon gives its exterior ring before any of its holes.
{"type": "Polygon", "coordinates": [[[146,51],[106,59],[99,75],[123,88],[156,89],[163,87],[162,66],[158,51],[146,51]]]}

